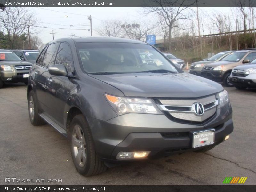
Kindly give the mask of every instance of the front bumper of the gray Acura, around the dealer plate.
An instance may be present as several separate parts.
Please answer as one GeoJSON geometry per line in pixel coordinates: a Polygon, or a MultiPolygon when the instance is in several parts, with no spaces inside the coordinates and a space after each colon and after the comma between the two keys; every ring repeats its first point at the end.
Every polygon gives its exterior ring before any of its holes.
{"type": "Polygon", "coordinates": [[[217,109],[210,122],[203,125],[174,122],[165,115],[132,113],[117,116],[106,122],[90,117],[87,120],[98,156],[110,162],[127,161],[116,160],[120,151],[151,151],[148,156],[150,158],[197,150],[199,148],[191,147],[191,131],[215,128],[214,145],[224,141],[224,138],[233,131],[230,104],[217,109]]]}

